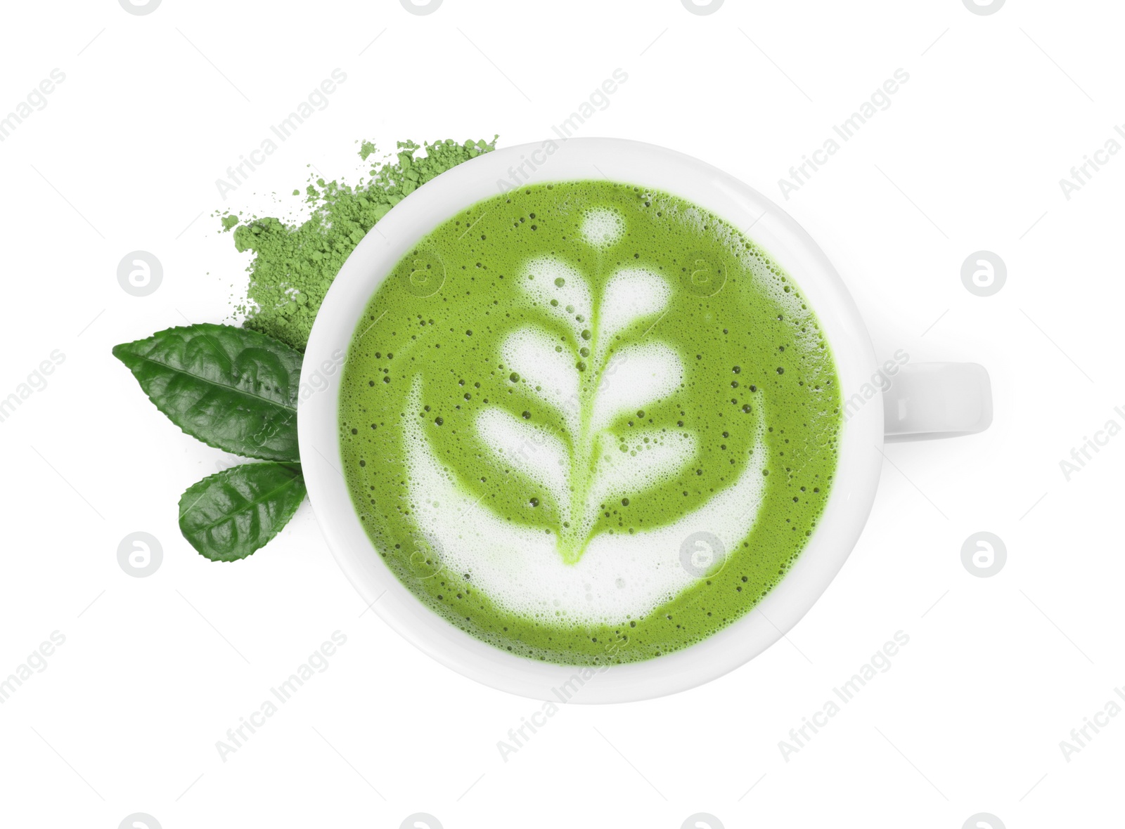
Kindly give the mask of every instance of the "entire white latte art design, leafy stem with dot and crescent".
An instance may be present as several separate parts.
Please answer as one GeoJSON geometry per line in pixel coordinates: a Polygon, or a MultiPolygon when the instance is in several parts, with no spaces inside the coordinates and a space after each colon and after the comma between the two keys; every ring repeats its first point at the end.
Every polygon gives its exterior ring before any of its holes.
{"type": "MultiPolygon", "coordinates": [[[[593,210],[579,235],[604,254],[624,230],[613,211],[593,210]]],[[[470,574],[508,611],[620,623],[716,570],[683,565],[685,536],[714,527],[719,535],[709,535],[726,549],[750,530],[764,494],[763,443],[759,436],[734,485],[701,508],[658,529],[598,534],[595,523],[610,514],[610,503],[627,505],[681,476],[698,454],[692,430],[646,417],[685,385],[680,353],[650,336],[675,290],[640,266],[610,270],[598,286],[557,255],[529,258],[516,285],[528,320],[501,338],[500,368],[537,402],[522,411],[487,406],[474,426],[493,462],[515,479],[508,486],[526,491],[554,520],[512,527],[470,499],[464,491],[469,476],[458,466],[441,468],[425,434],[408,428],[415,520],[421,535],[446,550],[446,565],[470,574]]],[[[416,375],[415,410],[424,408],[423,386],[416,375]]]]}

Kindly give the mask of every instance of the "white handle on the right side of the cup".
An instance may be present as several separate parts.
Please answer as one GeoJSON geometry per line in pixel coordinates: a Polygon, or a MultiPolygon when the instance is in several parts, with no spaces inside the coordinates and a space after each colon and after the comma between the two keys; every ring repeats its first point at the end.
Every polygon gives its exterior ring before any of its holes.
{"type": "Polygon", "coordinates": [[[992,385],[976,363],[907,363],[883,390],[886,443],[975,435],[992,422],[992,385]]]}

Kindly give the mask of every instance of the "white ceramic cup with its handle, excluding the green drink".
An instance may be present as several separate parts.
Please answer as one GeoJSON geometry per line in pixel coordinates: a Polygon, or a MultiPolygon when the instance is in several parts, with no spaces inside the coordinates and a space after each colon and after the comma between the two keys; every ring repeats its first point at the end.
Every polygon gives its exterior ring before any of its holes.
{"type": "Polygon", "coordinates": [[[885,377],[889,367],[876,362],[860,312],[825,254],[764,195],[709,164],[650,144],[548,140],[498,149],[441,174],[396,204],[356,247],[321,307],[305,352],[302,386],[316,391],[302,395],[300,457],[313,509],[340,567],[363,602],[426,654],[478,682],[524,696],[556,702],[648,699],[721,676],[796,625],[860,537],[875,498],[884,440],[972,434],[991,422],[989,380],[981,366],[896,364],[894,381],[886,388],[879,377],[885,377]],[[340,366],[363,309],[418,239],[504,189],[603,177],[663,190],[710,210],[746,231],[796,281],[836,358],[845,422],[824,516],[790,572],[758,605],[682,650],[646,662],[582,668],[486,645],[426,608],[394,576],[364,534],[344,483],[338,407],[340,366]],[[884,389],[882,406],[873,400],[872,384],[884,389]]]}

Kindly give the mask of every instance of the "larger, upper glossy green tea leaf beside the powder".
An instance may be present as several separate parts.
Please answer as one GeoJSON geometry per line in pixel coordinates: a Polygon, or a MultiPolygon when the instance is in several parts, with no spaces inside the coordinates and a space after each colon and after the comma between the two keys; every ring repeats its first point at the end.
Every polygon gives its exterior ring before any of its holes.
{"type": "Polygon", "coordinates": [[[144,393],[208,446],[299,461],[300,352],[256,331],[209,322],[114,347],[144,393]]]}

